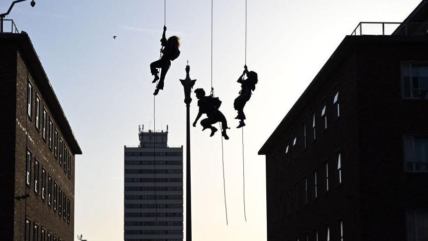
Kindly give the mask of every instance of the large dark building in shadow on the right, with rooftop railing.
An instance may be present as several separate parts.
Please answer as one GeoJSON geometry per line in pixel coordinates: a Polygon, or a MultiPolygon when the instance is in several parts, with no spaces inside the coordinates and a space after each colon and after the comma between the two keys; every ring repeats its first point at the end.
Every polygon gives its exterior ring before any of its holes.
{"type": "Polygon", "coordinates": [[[427,18],[360,23],[259,150],[268,241],[428,240],[427,18]]]}

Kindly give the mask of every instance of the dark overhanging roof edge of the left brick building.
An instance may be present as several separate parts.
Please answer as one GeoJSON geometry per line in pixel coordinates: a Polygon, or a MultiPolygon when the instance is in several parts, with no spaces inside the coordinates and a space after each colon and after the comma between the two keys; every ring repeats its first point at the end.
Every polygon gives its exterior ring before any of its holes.
{"type": "Polygon", "coordinates": [[[64,138],[70,144],[70,149],[75,154],[82,154],[82,150],[77,142],[76,136],[70,127],[70,124],[64,114],[64,111],[58,101],[57,96],[52,88],[51,83],[46,75],[45,70],[34,50],[33,44],[27,33],[1,33],[0,39],[12,40],[17,44],[17,48],[23,53],[22,58],[30,69],[31,75],[34,77],[34,81],[37,87],[42,92],[45,101],[49,104],[49,110],[56,120],[64,138]]]}

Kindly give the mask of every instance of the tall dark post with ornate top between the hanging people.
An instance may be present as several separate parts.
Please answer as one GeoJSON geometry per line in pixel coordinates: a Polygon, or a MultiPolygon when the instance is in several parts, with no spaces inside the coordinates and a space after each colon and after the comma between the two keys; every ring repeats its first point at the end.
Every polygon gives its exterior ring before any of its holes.
{"type": "Polygon", "coordinates": [[[186,66],[186,79],[180,80],[184,87],[184,103],[186,103],[186,241],[192,241],[192,196],[190,175],[190,93],[196,80],[190,79],[189,61],[186,66]]]}

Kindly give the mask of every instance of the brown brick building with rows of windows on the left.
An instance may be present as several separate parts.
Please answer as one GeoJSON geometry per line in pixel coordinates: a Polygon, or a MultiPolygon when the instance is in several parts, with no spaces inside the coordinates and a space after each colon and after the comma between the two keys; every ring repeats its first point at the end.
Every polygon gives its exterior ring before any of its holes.
{"type": "Polygon", "coordinates": [[[74,240],[82,154],[28,35],[0,34],[0,240],[74,240]]]}

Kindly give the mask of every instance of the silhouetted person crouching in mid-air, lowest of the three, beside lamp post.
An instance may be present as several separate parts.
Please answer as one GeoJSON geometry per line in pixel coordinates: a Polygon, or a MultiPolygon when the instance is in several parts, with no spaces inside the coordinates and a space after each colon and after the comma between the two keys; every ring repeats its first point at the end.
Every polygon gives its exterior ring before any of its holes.
{"type": "Polygon", "coordinates": [[[224,139],[228,140],[229,136],[226,134],[226,129],[229,129],[229,127],[227,127],[227,120],[223,113],[218,110],[221,105],[221,101],[218,98],[214,98],[212,96],[205,96],[205,91],[201,88],[196,89],[195,94],[196,98],[198,98],[199,113],[195,122],[193,122],[193,126],[196,127],[196,123],[201,118],[202,114],[207,114],[207,118],[201,120],[201,125],[204,127],[202,130],[210,128],[210,136],[213,136],[215,131],[217,131],[217,128],[215,128],[213,124],[221,122],[221,135],[224,137],[224,139]]]}

